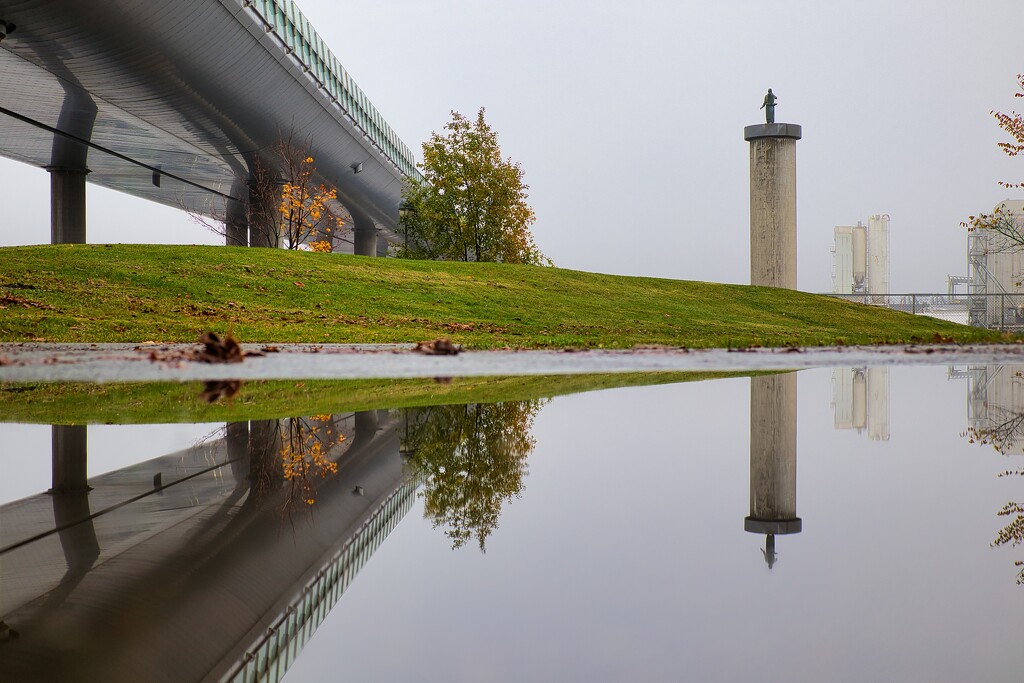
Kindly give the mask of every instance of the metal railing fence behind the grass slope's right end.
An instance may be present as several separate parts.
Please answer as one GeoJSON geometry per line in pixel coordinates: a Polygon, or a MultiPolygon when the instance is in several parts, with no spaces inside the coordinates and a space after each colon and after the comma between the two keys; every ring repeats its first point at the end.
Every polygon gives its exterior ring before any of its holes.
{"type": "Polygon", "coordinates": [[[871,306],[990,330],[1024,331],[1024,292],[1007,294],[825,294],[871,306]]]}

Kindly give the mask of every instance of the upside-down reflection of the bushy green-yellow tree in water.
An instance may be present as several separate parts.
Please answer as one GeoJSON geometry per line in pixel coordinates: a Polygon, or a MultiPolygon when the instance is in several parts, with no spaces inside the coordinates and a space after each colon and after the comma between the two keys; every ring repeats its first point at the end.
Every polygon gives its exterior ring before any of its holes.
{"type": "Polygon", "coordinates": [[[480,551],[502,505],[522,493],[541,400],[439,405],[410,411],[404,450],[423,476],[425,515],[452,547],[475,538],[480,551]]]}

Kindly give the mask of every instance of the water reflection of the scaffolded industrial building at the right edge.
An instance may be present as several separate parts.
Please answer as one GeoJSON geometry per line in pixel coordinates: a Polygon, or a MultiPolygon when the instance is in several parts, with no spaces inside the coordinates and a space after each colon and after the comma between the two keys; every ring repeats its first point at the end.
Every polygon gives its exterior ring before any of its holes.
{"type": "Polygon", "coordinates": [[[950,370],[967,377],[967,425],[1001,453],[1024,454],[1024,366],[971,366],[950,370]]]}

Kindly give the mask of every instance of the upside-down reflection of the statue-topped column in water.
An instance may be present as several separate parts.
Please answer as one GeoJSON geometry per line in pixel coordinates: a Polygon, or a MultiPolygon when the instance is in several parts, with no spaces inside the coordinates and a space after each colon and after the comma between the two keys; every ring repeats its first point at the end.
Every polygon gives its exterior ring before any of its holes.
{"type": "Polygon", "coordinates": [[[775,563],[775,536],[799,533],[797,516],[797,375],[751,378],[751,514],[743,528],[766,535],[765,562],[775,563]]]}

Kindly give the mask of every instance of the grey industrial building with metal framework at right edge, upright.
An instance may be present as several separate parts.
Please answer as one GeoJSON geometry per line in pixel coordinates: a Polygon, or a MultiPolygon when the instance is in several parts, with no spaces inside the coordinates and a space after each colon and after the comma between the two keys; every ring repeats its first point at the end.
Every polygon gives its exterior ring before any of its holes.
{"type": "Polygon", "coordinates": [[[1000,202],[991,224],[968,232],[968,322],[999,329],[1024,326],[1024,200],[1000,202]]]}

